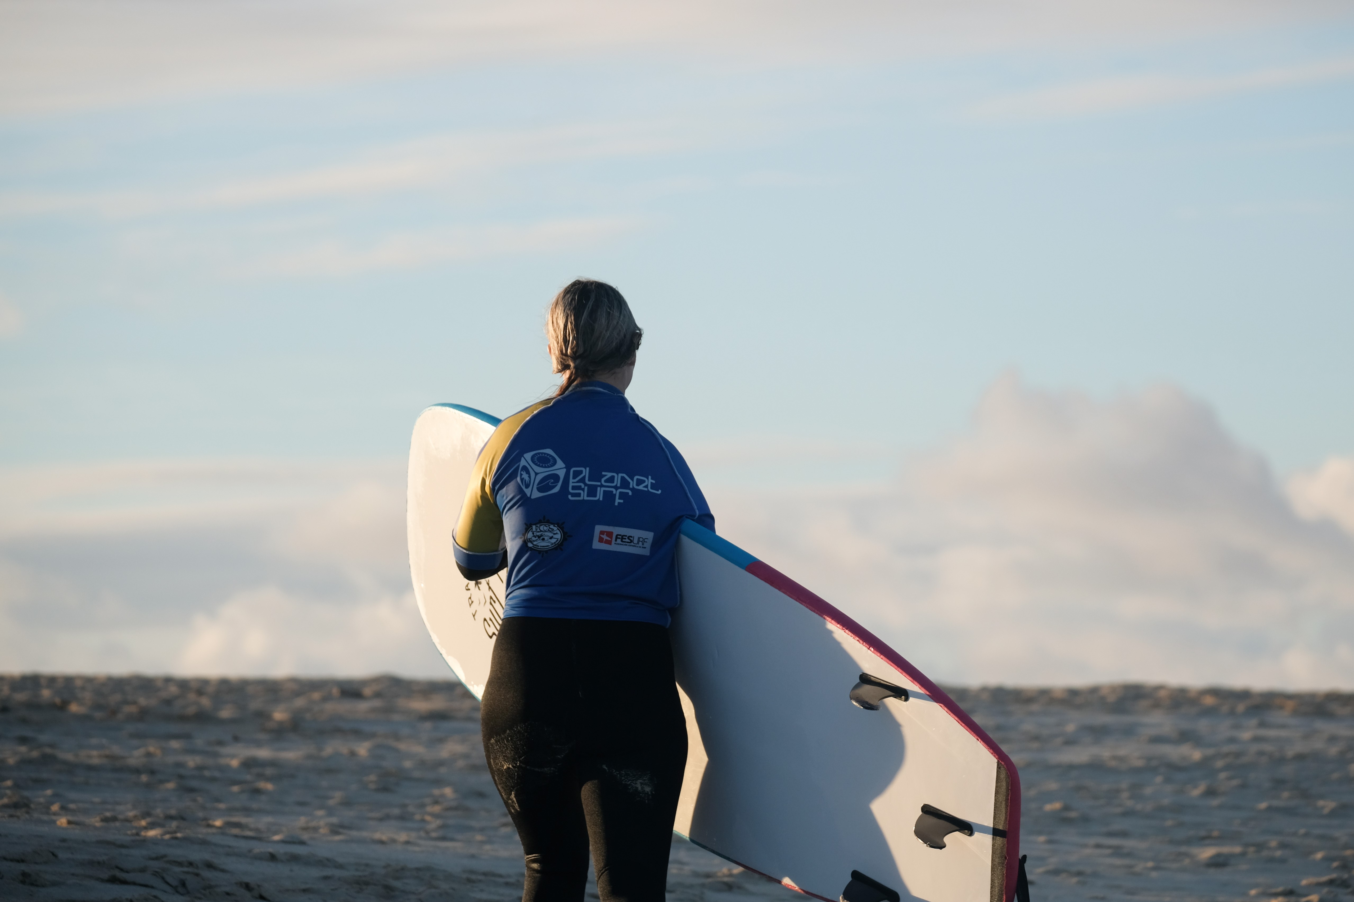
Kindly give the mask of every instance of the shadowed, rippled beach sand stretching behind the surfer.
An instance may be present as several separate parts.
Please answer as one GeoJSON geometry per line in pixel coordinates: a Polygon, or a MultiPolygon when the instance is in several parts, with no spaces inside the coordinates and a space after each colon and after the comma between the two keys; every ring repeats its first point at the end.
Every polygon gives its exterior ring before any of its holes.
{"type": "MultiPolygon", "coordinates": [[[[1354,898],[1354,695],[955,694],[1021,769],[1036,902],[1354,898]]],[[[456,683],[0,676],[3,899],[520,891],[456,683]]],[[[803,898],[681,840],[669,897],[803,898]]]]}

